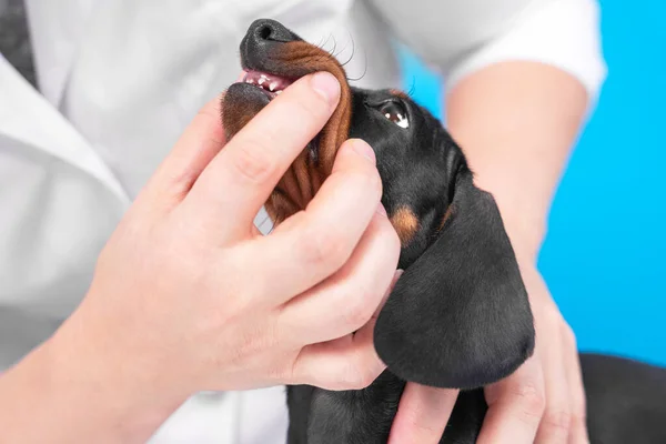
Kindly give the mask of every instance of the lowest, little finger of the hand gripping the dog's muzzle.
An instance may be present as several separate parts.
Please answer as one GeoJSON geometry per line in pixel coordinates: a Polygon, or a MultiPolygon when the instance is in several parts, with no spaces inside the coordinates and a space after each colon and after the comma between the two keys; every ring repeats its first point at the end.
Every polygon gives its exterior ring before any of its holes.
{"type": "MultiPolygon", "coordinates": [[[[386,301],[402,274],[394,273],[384,294],[386,301]]],[[[383,305],[383,304],[381,304],[383,305]]],[[[290,380],[326,390],[360,390],[370,385],[386,369],[374,350],[373,332],[381,306],[371,321],[355,334],[306,345],[294,361],[290,380]]]]}

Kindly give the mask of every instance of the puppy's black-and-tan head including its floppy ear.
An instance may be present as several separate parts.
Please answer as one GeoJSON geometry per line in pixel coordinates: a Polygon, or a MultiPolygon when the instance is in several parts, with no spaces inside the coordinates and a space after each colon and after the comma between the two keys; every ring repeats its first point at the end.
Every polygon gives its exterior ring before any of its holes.
{"type": "Polygon", "coordinates": [[[442,124],[398,91],[351,88],[333,56],[272,20],[251,24],[241,60],[245,80],[222,104],[229,138],[294,79],[329,71],[342,85],[333,117],[266,202],[276,223],[305,209],[344,140],[363,139],[375,151],[405,269],[375,327],[389,370],[462,389],[513,373],[534,349],[527,294],[493,196],[474,185],[442,124]]]}

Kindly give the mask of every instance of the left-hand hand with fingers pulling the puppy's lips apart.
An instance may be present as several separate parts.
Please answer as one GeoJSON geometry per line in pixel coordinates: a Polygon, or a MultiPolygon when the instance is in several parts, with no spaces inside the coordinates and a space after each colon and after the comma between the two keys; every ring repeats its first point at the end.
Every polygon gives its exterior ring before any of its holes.
{"type": "Polygon", "coordinates": [[[253,225],[339,94],[327,73],[300,79],[223,150],[219,101],[206,105],[104,248],[54,359],[162,405],[203,390],[369,385],[384,369],[369,321],[400,254],[372,149],[345,142],[305,211],[268,236],[253,225]]]}

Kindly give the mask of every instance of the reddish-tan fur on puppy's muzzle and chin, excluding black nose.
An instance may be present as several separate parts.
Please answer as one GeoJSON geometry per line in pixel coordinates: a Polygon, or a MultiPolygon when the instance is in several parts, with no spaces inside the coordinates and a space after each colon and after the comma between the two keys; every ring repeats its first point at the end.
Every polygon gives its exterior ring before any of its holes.
{"type": "MultiPolygon", "coordinates": [[[[315,140],[294,160],[266,202],[266,211],[275,223],[280,223],[297,211],[304,210],[322,182],[331,174],[335,154],[349,138],[352,115],[352,94],[346,74],[333,56],[304,41],[289,42],[281,47],[283,50],[280,53],[271,54],[273,62],[289,65],[290,71],[299,72],[299,77],[327,71],[340,82],[341,95],[340,103],[329,122],[315,140]]],[[[259,75],[256,79],[256,82],[259,82],[262,77],[259,75]]],[[[272,99],[274,94],[269,94],[265,100],[256,102],[239,102],[235,99],[223,100],[222,118],[228,140],[269,103],[269,97],[272,99]]]]}

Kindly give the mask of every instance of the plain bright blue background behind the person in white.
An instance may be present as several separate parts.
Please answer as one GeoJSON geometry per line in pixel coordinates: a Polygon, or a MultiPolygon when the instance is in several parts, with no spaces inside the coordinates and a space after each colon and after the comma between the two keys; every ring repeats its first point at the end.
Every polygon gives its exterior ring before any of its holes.
{"type": "MultiPolygon", "coordinates": [[[[539,269],[581,350],[666,365],[666,1],[635,4],[601,0],[608,77],[555,198],[539,269]]],[[[442,115],[440,79],[401,57],[404,88],[442,115]]]]}

